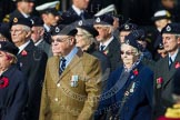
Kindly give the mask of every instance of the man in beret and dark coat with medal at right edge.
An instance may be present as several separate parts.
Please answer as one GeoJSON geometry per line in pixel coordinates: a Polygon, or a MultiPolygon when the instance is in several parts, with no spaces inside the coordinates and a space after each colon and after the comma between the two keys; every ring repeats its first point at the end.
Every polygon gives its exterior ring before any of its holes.
{"type": "Polygon", "coordinates": [[[173,104],[172,100],[172,81],[173,74],[180,67],[180,24],[168,23],[162,29],[162,43],[168,51],[166,58],[157,62],[154,77],[154,97],[156,107],[154,116],[164,114],[168,107],[173,104]]]}

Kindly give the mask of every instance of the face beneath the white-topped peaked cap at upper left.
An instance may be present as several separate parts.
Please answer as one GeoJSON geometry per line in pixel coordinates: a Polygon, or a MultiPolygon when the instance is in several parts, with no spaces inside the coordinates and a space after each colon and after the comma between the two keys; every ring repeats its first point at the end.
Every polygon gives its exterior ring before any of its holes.
{"type": "Polygon", "coordinates": [[[59,17],[52,13],[43,13],[42,19],[43,19],[43,22],[48,26],[56,26],[59,21],[59,17]]]}

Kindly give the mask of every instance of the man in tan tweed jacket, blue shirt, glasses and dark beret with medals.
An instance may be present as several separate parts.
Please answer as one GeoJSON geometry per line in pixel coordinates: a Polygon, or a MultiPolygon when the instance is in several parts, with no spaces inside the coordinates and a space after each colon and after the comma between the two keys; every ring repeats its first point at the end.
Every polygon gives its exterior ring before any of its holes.
{"type": "Polygon", "coordinates": [[[100,94],[101,67],[97,58],[76,47],[77,29],[54,27],[39,120],[92,120],[100,94]]]}

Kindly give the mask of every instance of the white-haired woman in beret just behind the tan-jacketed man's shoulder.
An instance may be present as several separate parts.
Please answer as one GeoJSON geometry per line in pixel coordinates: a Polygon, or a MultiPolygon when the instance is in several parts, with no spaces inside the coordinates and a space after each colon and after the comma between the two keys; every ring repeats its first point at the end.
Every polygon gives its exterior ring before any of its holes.
{"type": "MultiPolygon", "coordinates": [[[[82,22],[82,21],[80,21],[82,22]]],[[[78,33],[76,36],[77,43],[82,51],[88,52],[101,61],[102,73],[108,73],[110,71],[110,63],[108,58],[97,50],[97,41],[94,37],[98,36],[98,31],[89,24],[79,24],[77,27],[78,33]]]]}

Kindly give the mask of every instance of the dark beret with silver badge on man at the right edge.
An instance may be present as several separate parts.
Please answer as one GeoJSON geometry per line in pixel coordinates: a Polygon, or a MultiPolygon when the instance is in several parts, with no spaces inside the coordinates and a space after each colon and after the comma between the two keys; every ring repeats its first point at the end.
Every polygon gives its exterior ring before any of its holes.
{"type": "Polygon", "coordinates": [[[161,31],[161,33],[180,34],[179,23],[168,23],[161,31]]]}

